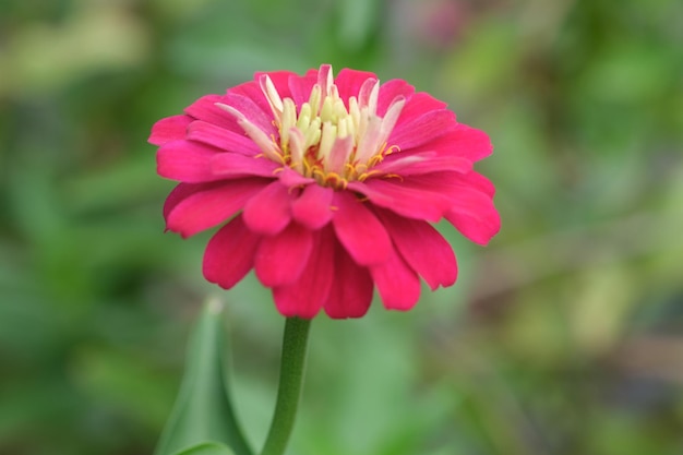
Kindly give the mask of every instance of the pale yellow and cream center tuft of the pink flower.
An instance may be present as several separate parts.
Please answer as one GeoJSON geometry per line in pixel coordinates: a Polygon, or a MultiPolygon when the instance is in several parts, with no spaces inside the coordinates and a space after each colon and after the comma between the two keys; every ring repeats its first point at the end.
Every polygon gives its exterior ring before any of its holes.
{"type": "Polygon", "coordinates": [[[346,188],[349,181],[362,181],[374,172],[373,166],[397,149],[387,147],[387,139],[405,99],[396,97],[384,117],[378,116],[380,82],[374,79],[368,79],[358,96],[349,97],[348,105],[339,97],[328,65],[321,68],[317,84],[301,106],[291,98],[283,99],[267,74],[259,82],[279,137],[268,137],[231,106],[217,106],[237,118],[264,156],[314,178],[320,184],[346,188]]]}

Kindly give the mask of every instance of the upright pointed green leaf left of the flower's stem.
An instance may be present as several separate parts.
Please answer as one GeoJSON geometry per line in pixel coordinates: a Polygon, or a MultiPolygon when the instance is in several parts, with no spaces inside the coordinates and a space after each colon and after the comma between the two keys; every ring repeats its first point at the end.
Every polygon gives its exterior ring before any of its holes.
{"type": "Polygon", "coordinates": [[[219,301],[209,300],[204,306],[190,338],[180,393],[155,455],[188,451],[205,441],[225,443],[236,455],[252,454],[239,430],[226,387],[226,336],[221,315],[219,301]]]}

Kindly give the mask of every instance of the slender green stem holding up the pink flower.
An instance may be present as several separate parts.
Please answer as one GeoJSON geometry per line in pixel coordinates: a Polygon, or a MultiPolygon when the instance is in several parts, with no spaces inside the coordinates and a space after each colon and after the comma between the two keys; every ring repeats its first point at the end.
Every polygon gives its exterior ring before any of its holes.
{"type": "Polygon", "coordinates": [[[283,339],[277,403],[261,455],[283,455],[295,426],[301,395],[310,320],[287,318],[283,339]]]}

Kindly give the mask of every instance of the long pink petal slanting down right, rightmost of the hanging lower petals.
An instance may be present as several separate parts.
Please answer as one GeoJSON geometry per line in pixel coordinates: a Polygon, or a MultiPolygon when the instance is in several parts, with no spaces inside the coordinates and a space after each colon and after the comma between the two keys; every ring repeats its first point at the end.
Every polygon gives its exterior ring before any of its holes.
{"type": "Polygon", "coordinates": [[[432,290],[455,283],[455,254],[436,229],[427,221],[404,218],[388,211],[376,213],[403,259],[424,278],[432,290]]]}

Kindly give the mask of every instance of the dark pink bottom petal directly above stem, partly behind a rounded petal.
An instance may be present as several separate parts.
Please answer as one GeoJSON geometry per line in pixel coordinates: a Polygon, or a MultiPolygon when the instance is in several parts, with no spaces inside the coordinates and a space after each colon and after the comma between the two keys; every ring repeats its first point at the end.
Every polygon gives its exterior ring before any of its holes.
{"type": "Polygon", "coordinates": [[[275,306],[287,318],[315,316],[329,296],[335,274],[332,229],[315,231],[313,237],[311,256],[299,279],[273,288],[275,306]]]}

